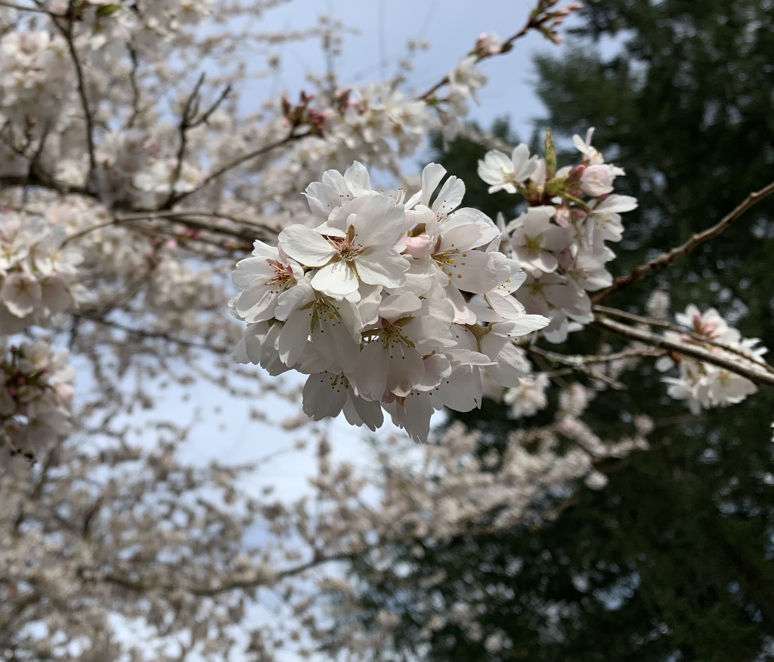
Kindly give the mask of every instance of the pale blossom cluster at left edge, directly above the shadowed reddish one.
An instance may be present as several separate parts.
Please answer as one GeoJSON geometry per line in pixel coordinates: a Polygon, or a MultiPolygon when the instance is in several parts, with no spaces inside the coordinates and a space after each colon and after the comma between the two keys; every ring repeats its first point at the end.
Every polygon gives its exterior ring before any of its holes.
{"type": "Polygon", "coordinates": [[[0,334],[13,334],[67,308],[80,263],[63,247],[65,228],[26,214],[0,214],[0,334]]]}

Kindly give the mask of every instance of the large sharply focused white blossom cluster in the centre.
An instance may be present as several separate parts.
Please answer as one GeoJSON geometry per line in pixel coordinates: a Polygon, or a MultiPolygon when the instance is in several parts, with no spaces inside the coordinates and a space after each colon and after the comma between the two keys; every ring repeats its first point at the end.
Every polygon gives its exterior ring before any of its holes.
{"type": "Polygon", "coordinates": [[[416,441],[434,409],[481,406],[482,370],[518,386],[529,365],[514,339],[549,321],[512,297],[526,274],[485,214],[457,208],[461,180],[433,198],[445,174],[426,166],[408,200],[372,190],[358,162],[310,184],[320,225],[290,225],[276,248],[255,242],[237,264],[231,308],[248,322],[237,361],[308,374],[303,410],[315,420],[343,410],[375,430],[383,408],[416,441]]]}

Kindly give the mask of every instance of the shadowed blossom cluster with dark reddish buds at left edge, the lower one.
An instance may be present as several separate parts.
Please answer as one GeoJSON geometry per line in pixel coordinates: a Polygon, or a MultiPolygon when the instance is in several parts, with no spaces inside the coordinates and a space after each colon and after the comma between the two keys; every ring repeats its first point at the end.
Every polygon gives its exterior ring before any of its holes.
{"type": "Polygon", "coordinates": [[[6,350],[0,362],[0,448],[34,460],[43,448],[70,434],[75,370],[67,350],[45,342],[6,350]]]}

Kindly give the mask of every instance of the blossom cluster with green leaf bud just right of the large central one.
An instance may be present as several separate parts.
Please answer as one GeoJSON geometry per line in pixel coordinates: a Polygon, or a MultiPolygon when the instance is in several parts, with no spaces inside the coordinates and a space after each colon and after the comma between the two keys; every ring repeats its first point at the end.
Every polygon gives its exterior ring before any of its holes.
{"type": "Polygon", "coordinates": [[[488,152],[478,162],[478,174],[489,192],[522,194],[529,207],[507,226],[512,256],[527,273],[516,298],[527,312],[550,319],[546,340],[563,342],[569,331],[592,319],[587,292],[612,283],[605,263],[615,253],[606,241],[621,241],[621,213],[637,207],[635,198],[613,194],[621,168],[604,163],[593,146],[574,136],[583,163],[556,170],[556,151],[546,139],[546,158],[529,156],[522,144],[512,155],[488,152]]]}

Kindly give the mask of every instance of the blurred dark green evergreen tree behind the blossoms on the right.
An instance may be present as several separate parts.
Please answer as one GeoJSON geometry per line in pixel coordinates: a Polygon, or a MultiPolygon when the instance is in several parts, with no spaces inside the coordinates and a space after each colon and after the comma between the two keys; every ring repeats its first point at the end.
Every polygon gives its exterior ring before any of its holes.
{"type": "MultiPolygon", "coordinates": [[[[560,146],[597,128],[594,145],[625,168],[619,193],[639,198],[615,249],[618,274],[719,221],[774,174],[774,2],[588,0],[563,57],[538,57],[538,92],[560,146]],[[622,40],[604,60],[594,44],[622,40]],[[648,246],[646,249],[645,246],[648,246]]],[[[508,123],[492,129],[514,142],[508,123]]],[[[513,218],[515,197],[476,177],[486,149],[457,139],[440,161],[467,183],[464,204],[513,218]],[[478,184],[476,184],[478,182],[478,184]]],[[[567,160],[565,160],[567,163],[567,160]]],[[[612,297],[644,314],[660,283],[673,310],[716,307],[745,336],[774,346],[770,299],[774,206],[761,204],[719,240],[612,297]]],[[[616,274],[616,275],[618,275],[616,274]]],[[[600,334],[600,344],[620,342],[600,334]]],[[[574,352],[573,336],[563,352],[574,352]]],[[[656,412],[649,451],[604,465],[610,482],[578,487],[552,521],[507,535],[407,545],[388,571],[359,561],[366,620],[399,613],[399,644],[430,660],[764,660],[774,657],[772,393],[687,416],[652,362],[584,414],[609,437],[656,412]],[[429,623],[426,605],[465,600],[464,623],[429,623]],[[423,629],[430,632],[422,639],[423,629]],[[505,646],[502,641],[505,640],[505,646]]],[[[507,408],[453,413],[482,430],[481,453],[520,426],[507,408]]],[[[548,417],[547,412],[539,414],[548,417]]],[[[535,422],[536,419],[530,420],[535,422]]],[[[605,436],[602,434],[601,436],[605,436]]]]}

